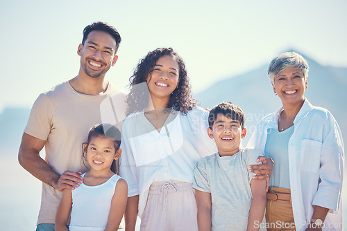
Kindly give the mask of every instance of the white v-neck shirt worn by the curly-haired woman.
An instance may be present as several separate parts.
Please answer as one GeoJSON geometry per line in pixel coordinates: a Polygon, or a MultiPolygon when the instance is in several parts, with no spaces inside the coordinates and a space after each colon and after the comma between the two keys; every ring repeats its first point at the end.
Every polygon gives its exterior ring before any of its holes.
{"type": "Polygon", "coordinates": [[[128,196],[139,195],[139,217],[153,182],[176,180],[194,183],[194,165],[217,152],[208,137],[208,111],[183,115],[172,110],[158,132],[144,112],[128,115],[122,127],[120,175],[128,183],[128,196]]]}

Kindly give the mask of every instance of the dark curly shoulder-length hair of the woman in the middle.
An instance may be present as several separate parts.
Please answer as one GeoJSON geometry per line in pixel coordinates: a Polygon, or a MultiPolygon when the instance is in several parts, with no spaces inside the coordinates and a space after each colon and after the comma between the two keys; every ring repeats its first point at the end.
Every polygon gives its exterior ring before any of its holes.
{"type": "MultiPolygon", "coordinates": [[[[170,55],[176,60],[180,68],[178,86],[171,93],[168,108],[180,111],[186,115],[188,111],[196,107],[196,100],[192,98],[191,85],[189,84],[189,77],[185,69],[183,59],[172,48],[157,48],[150,51],[144,59],[140,59],[139,64],[134,69],[134,74],[130,77],[130,93],[126,102],[128,109],[126,114],[136,111],[143,111],[149,103],[149,91],[141,91],[141,88],[136,88],[135,85],[146,82],[147,76],[153,71],[153,68],[158,59],[164,55],[170,55]]],[[[146,90],[148,86],[146,84],[146,90]]]]}

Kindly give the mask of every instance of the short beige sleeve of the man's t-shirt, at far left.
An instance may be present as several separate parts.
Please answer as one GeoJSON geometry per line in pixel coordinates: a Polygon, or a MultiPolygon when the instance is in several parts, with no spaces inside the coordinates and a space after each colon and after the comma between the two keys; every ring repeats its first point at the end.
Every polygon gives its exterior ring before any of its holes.
{"type": "Polygon", "coordinates": [[[52,129],[53,106],[42,93],[35,100],[24,132],[40,140],[47,140],[52,129]]]}

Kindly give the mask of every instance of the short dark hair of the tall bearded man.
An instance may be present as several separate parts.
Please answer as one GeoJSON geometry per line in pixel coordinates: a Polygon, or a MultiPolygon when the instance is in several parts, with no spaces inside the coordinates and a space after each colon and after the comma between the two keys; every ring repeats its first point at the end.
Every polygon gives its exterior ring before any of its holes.
{"type": "Polygon", "coordinates": [[[119,44],[121,43],[121,35],[119,35],[118,31],[116,28],[113,26],[110,26],[106,24],[103,21],[95,21],[94,23],[86,26],[83,30],[83,39],[82,39],[82,45],[84,46],[85,40],[87,40],[88,35],[93,31],[93,30],[100,30],[100,31],[105,31],[105,33],[109,33],[112,35],[112,37],[115,38],[116,40],[116,49],[115,53],[117,53],[119,44]]]}

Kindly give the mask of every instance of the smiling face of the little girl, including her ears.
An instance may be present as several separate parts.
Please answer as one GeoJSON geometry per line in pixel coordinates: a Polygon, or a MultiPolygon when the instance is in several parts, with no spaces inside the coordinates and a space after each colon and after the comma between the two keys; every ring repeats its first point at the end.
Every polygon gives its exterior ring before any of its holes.
{"type": "Polygon", "coordinates": [[[114,142],[102,136],[92,138],[85,147],[87,147],[87,162],[94,170],[110,169],[113,160],[121,156],[121,149],[116,151],[114,142]]]}

